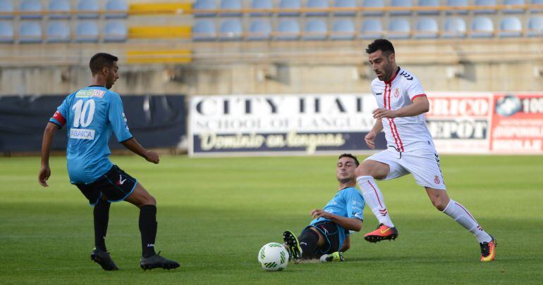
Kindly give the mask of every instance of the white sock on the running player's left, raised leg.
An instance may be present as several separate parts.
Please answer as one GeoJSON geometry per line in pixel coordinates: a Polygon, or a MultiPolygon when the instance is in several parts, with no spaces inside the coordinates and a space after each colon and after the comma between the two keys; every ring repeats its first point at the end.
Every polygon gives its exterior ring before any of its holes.
{"type": "Polygon", "coordinates": [[[356,182],[362,190],[362,196],[367,205],[370,205],[373,215],[377,217],[380,224],[385,224],[389,227],[394,227],[394,224],[390,220],[389,211],[386,210],[384,205],[383,194],[381,190],[377,187],[375,180],[371,176],[359,176],[356,177],[356,182]]]}

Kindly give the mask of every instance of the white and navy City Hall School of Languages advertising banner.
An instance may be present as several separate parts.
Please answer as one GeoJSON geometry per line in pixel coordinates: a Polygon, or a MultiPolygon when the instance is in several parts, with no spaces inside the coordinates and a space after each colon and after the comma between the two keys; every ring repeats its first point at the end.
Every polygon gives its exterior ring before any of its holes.
{"type": "MultiPolygon", "coordinates": [[[[368,150],[372,94],[193,96],[191,156],[312,154],[368,150]]],[[[377,148],[386,148],[384,134],[377,148]]]]}

